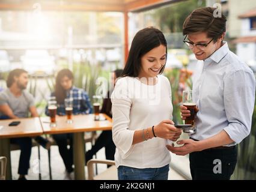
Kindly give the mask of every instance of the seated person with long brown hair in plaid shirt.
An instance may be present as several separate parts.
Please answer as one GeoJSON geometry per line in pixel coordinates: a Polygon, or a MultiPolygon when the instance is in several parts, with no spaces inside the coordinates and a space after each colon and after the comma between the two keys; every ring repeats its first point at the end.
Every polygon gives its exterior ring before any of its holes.
{"type": "MultiPolygon", "coordinates": [[[[58,104],[57,115],[66,115],[65,98],[73,98],[74,115],[93,112],[87,92],[73,86],[73,79],[73,73],[69,69],[59,71],[56,76],[55,91],[52,92],[51,96],[56,97],[58,104]]],[[[46,115],[49,116],[47,106],[46,115]]],[[[68,179],[72,179],[70,173],[73,173],[73,133],[53,134],[53,139],[56,141],[59,147],[59,154],[64,161],[66,176],[68,179]],[[68,140],[70,141],[70,148],[67,148],[68,140]]]]}

